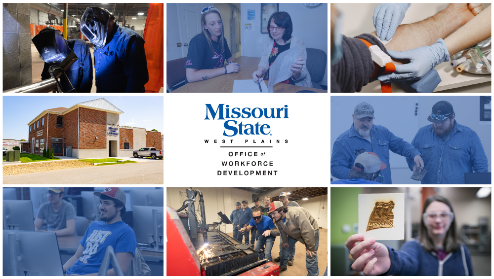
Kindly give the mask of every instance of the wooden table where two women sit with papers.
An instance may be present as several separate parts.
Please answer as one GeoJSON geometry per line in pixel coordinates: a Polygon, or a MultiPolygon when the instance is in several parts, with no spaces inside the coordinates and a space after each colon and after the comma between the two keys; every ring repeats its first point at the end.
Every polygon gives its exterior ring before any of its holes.
{"type": "MultiPolygon", "coordinates": [[[[257,66],[261,58],[259,57],[249,57],[241,56],[235,59],[237,64],[241,65],[239,72],[222,74],[211,79],[190,82],[171,93],[232,93],[233,92],[233,81],[235,79],[252,79],[252,73],[257,70],[257,66]]],[[[268,86],[268,81],[264,80],[266,87],[268,86]]],[[[295,93],[302,90],[309,90],[319,93],[328,93],[328,90],[321,90],[316,88],[308,88],[303,86],[291,85],[286,83],[277,83],[273,86],[274,93],[295,93]]],[[[258,92],[253,92],[258,93],[258,92]]]]}

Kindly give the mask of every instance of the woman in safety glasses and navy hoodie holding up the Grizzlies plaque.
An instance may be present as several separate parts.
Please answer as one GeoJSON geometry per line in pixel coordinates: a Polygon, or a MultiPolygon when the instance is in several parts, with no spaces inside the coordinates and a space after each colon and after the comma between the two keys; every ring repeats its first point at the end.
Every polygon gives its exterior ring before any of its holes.
{"type": "Polygon", "coordinates": [[[451,203],[430,196],[421,217],[418,240],[406,242],[400,251],[374,239],[363,241],[362,234],[349,237],[345,245],[355,259],[352,269],[367,276],[473,276],[470,252],[456,235],[451,203]]]}

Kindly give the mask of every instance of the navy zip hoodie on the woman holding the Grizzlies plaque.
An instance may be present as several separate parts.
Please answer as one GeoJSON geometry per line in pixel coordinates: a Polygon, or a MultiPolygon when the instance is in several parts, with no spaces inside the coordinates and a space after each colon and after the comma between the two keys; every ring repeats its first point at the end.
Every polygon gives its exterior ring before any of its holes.
{"type": "Polygon", "coordinates": [[[473,276],[470,252],[464,244],[443,261],[434,251],[424,250],[417,240],[406,242],[400,251],[390,247],[388,251],[391,267],[384,276],[473,276]]]}

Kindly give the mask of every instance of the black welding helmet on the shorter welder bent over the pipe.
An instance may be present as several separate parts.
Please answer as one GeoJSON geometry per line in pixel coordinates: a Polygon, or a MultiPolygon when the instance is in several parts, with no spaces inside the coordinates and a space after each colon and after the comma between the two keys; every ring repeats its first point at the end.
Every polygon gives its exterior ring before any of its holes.
{"type": "Polygon", "coordinates": [[[51,65],[60,64],[72,51],[60,30],[45,27],[32,39],[44,62],[51,65]]]}

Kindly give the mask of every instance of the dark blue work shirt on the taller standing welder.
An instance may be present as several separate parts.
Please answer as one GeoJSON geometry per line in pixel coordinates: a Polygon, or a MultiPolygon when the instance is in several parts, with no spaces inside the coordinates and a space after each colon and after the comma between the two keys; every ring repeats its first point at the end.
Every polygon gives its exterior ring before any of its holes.
{"type": "Polygon", "coordinates": [[[94,52],[96,92],[144,92],[149,79],[144,39],[116,24],[113,38],[94,52]]]}

